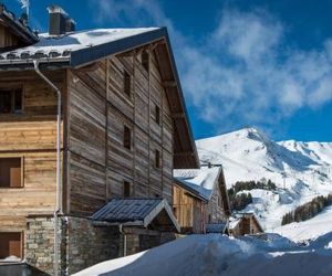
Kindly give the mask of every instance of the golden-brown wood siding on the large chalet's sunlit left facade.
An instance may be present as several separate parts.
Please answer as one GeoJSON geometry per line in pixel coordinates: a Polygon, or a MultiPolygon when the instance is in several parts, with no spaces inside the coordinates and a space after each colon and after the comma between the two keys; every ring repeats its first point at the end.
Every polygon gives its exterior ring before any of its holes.
{"type": "MultiPolygon", "coordinates": [[[[64,74],[53,72],[64,88],[64,74]]],[[[0,189],[0,231],[25,229],[28,214],[52,213],[55,204],[55,93],[33,73],[0,73],[0,87],[23,88],[23,113],[0,115],[0,158],[23,159],[23,188],[0,189]]]]}

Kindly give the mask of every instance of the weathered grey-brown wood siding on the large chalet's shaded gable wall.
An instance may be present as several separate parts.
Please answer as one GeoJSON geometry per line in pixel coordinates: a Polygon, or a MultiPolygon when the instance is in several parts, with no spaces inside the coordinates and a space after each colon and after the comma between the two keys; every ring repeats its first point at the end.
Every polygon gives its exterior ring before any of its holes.
{"type": "Polygon", "coordinates": [[[69,72],[69,204],[90,214],[112,197],[164,197],[172,204],[173,121],[158,64],[149,72],[141,55],[113,56],[89,68],[69,72]],[[124,72],[131,95],[124,93],[124,72]],[[160,109],[160,124],[155,106],[160,109]],[[124,126],[132,131],[123,146],[124,126]],[[155,168],[155,150],[160,168],[155,168]]]}

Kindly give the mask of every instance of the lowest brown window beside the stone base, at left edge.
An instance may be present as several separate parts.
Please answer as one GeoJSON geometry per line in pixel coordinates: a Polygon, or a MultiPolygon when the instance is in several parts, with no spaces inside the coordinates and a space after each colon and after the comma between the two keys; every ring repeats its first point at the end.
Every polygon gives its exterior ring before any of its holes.
{"type": "Polygon", "coordinates": [[[22,258],[22,233],[0,232],[0,259],[9,256],[22,258]]]}

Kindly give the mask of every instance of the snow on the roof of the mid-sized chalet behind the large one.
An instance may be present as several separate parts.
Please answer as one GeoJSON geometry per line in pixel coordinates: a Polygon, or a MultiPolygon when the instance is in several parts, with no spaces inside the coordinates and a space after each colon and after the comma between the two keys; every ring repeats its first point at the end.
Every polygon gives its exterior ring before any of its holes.
{"type": "Polygon", "coordinates": [[[221,167],[201,167],[200,169],[174,170],[174,178],[181,184],[194,189],[198,195],[210,200],[215,184],[220,174],[221,167]]]}

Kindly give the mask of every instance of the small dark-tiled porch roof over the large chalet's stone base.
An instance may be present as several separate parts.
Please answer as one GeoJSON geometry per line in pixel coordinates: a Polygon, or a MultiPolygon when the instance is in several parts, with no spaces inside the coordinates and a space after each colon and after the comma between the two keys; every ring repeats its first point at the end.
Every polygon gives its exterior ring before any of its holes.
{"type": "MultiPolygon", "coordinates": [[[[97,210],[92,219],[126,226],[147,227],[164,211],[163,222],[179,232],[179,225],[164,199],[113,199],[97,210]]],[[[162,225],[165,226],[165,225],[162,225]]]]}

